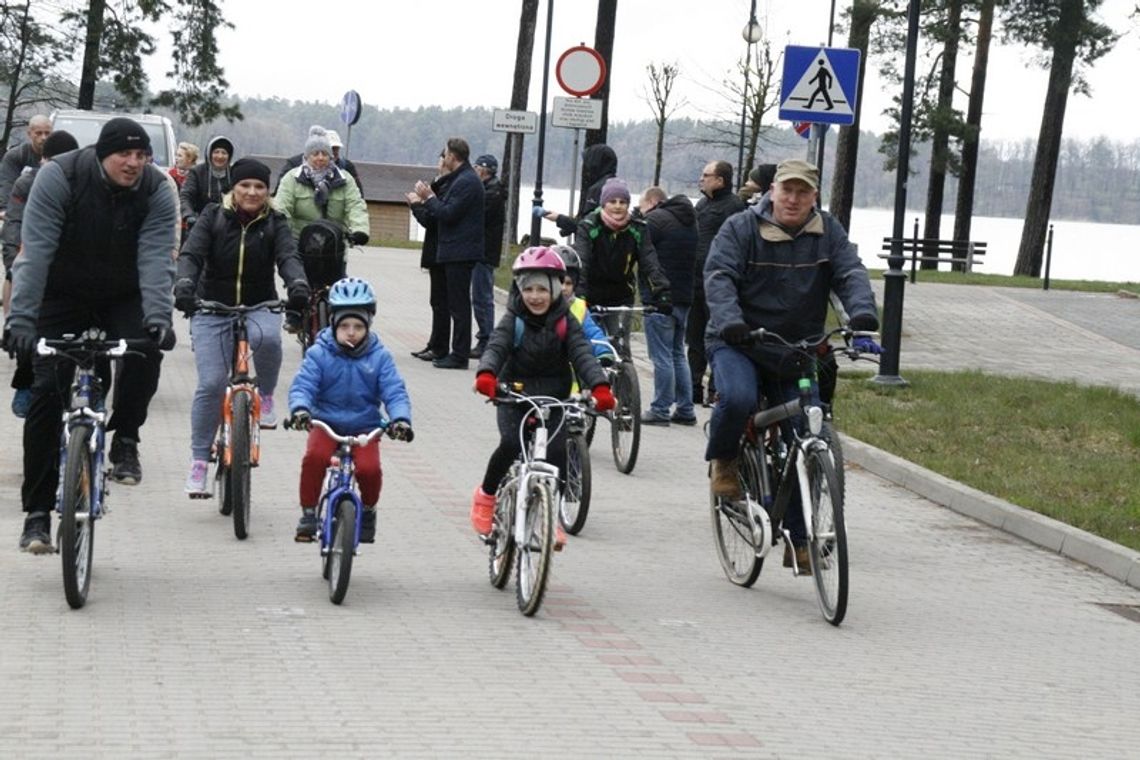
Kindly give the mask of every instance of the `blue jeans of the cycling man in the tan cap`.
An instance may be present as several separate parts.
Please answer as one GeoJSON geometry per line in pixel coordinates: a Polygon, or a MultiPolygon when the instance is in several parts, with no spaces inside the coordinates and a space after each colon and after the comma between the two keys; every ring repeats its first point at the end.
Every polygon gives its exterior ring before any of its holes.
{"type": "MultiPolygon", "coordinates": [[[[709,353],[709,365],[716,376],[716,390],[719,394],[712,408],[712,419],[709,423],[709,443],[705,450],[706,459],[735,459],[740,436],[744,433],[748,416],[759,403],[758,390],[769,403],[783,403],[799,398],[799,381],[760,377],[755,363],[747,356],[726,345],[718,345],[709,353]],[[759,386],[759,389],[757,389],[759,386]]],[[[812,383],[812,401],[820,403],[820,386],[812,383]]],[[[785,438],[791,436],[792,420],[781,423],[785,438]]],[[[803,417],[797,417],[795,424],[801,426],[803,417]]],[[[791,533],[792,541],[803,542],[804,513],[800,506],[799,488],[788,500],[784,513],[784,528],[791,533]]]]}

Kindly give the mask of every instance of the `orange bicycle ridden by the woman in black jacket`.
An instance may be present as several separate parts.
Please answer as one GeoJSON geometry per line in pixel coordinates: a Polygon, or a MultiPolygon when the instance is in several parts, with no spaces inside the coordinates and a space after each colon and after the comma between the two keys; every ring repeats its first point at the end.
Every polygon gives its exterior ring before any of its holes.
{"type": "MultiPolygon", "coordinates": [[[[234,520],[234,536],[244,541],[250,534],[250,472],[261,459],[261,397],[250,374],[250,338],[246,316],[252,311],[282,312],[282,301],[263,301],[253,305],[228,305],[218,301],[199,301],[204,314],[235,317],[233,324],[234,354],[230,359],[229,383],[221,401],[221,423],[214,436],[214,481],[221,493],[218,512],[234,520]]],[[[190,498],[209,499],[211,492],[192,493],[190,498]]]]}

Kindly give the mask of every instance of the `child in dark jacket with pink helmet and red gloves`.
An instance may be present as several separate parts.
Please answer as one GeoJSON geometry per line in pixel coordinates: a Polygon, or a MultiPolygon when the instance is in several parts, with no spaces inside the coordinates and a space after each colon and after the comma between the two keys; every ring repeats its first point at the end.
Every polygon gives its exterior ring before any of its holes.
{"type": "MultiPolygon", "coordinates": [[[[573,374],[577,374],[581,385],[592,390],[596,408],[601,411],[612,409],[613,394],[606,384],[605,371],[562,297],[565,276],[562,259],[547,247],[527,248],[515,260],[513,272],[514,287],[507,311],[479,361],[475,390],[495,398],[502,381],[521,383],[530,395],[564,399],[570,395],[573,374]]],[[[521,451],[519,425],[523,415],[526,410],[520,407],[498,408],[499,444],[471,501],[471,526],[481,536],[491,532],[495,491],[521,451]]],[[[551,430],[557,427],[559,418],[557,410],[552,410],[551,430]]],[[[563,431],[547,442],[546,453],[547,460],[560,472],[565,471],[563,431]]],[[[561,549],[565,544],[561,526],[557,533],[555,548],[561,549]]]]}

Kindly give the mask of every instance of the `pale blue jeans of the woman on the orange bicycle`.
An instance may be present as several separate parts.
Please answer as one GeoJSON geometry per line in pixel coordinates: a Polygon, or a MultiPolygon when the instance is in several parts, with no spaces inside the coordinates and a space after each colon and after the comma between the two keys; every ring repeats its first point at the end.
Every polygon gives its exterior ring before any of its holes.
{"type": "MultiPolygon", "coordinates": [[[[209,459],[214,431],[221,422],[221,400],[229,383],[234,358],[233,317],[194,314],[190,318],[190,345],[198,386],[190,403],[190,458],[209,459]]],[[[282,369],[282,318],[269,311],[246,317],[246,334],[258,373],[258,392],[272,395],[282,369]]],[[[284,407],[283,407],[284,408],[284,407]]]]}

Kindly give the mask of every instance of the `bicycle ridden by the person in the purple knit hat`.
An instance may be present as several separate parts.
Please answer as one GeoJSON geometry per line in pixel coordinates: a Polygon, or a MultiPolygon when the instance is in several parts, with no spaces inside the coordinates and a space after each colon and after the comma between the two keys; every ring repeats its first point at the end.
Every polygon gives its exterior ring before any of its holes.
{"type": "MultiPolygon", "coordinates": [[[[634,367],[629,348],[628,316],[642,312],[652,313],[653,307],[595,307],[592,313],[597,316],[618,314],[616,330],[606,327],[606,320],[598,319],[598,327],[610,340],[610,348],[617,357],[616,363],[604,366],[613,398],[617,401],[612,411],[604,412],[610,420],[610,446],[613,449],[613,465],[619,473],[628,475],[637,464],[637,451],[641,447],[641,382],[637,379],[637,368],[634,367]]],[[[587,441],[593,442],[594,428],[587,431],[587,441]]]]}

